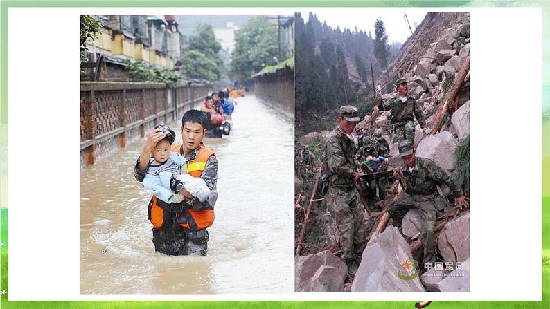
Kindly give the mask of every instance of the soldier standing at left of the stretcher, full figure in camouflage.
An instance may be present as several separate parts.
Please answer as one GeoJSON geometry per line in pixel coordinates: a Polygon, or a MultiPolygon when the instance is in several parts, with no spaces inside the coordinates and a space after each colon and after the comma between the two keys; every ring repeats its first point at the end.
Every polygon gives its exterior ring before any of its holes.
{"type": "Polygon", "coordinates": [[[339,113],[338,126],[328,134],[326,142],[328,169],[332,172],[326,202],[340,232],[341,258],[346,261],[348,270],[354,273],[373,221],[366,221],[355,187],[359,174],[355,171],[352,133],[361,119],[355,106],[341,106],[339,113]]]}

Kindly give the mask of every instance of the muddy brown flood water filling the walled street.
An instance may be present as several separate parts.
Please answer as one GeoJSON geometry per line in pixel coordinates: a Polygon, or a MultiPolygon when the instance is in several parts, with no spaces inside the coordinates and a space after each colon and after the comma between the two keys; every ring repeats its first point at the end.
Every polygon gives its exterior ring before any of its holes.
{"type": "MultiPolygon", "coordinates": [[[[168,124],[181,142],[179,122],[168,124]]],[[[80,176],[82,294],[272,294],[294,290],[294,121],[238,98],[231,135],[215,151],[218,202],[208,256],[155,253],[148,190],[133,165],[145,139],[80,176]]]]}

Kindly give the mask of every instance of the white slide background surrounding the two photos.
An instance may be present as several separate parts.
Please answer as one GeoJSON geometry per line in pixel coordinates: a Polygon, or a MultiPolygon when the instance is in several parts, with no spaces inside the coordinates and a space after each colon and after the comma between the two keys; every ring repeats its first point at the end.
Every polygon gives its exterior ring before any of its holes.
{"type": "MultiPolygon", "coordinates": [[[[345,15],[349,10],[389,9],[312,9],[316,10],[345,15]]],[[[541,300],[542,10],[467,10],[472,40],[470,292],[430,293],[429,299],[541,300]]],[[[420,293],[80,295],[79,15],[292,12],[270,8],[9,8],[10,301],[428,297],[420,293]]],[[[288,211],[292,212],[292,205],[288,211]]],[[[293,236],[289,231],[289,237],[293,236]]]]}

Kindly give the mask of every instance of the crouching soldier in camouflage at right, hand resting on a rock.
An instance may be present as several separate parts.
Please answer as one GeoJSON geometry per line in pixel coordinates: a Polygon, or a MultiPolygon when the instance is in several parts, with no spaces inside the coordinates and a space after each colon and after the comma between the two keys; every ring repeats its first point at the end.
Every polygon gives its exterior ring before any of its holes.
{"type": "Polygon", "coordinates": [[[424,247],[424,263],[436,261],[436,239],[434,228],[436,212],[443,211],[445,200],[438,194],[437,184],[445,183],[454,194],[454,203],[463,205],[465,198],[462,189],[456,185],[454,177],[449,171],[440,167],[436,162],[427,158],[416,157],[411,141],[399,144],[400,156],[405,163],[402,171],[406,188],[400,198],[388,209],[393,221],[401,221],[409,209],[416,208],[420,212],[423,224],[420,229],[420,239],[424,247]]]}

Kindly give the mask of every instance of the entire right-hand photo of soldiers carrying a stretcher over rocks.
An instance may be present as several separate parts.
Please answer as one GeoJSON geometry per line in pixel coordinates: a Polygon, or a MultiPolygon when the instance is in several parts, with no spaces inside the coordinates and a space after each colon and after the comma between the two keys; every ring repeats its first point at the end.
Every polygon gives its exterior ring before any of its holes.
{"type": "Polygon", "coordinates": [[[295,292],[470,292],[470,12],[296,12],[295,292]]]}

